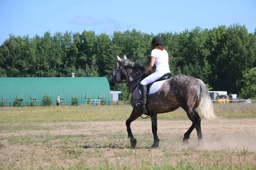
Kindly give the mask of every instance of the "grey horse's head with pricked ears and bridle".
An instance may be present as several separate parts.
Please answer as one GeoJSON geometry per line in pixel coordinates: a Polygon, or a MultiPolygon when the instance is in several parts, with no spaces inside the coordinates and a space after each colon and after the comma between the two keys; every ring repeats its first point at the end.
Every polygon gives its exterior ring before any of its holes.
{"type": "MultiPolygon", "coordinates": [[[[117,62],[114,67],[114,71],[108,80],[109,84],[111,86],[118,85],[118,83],[122,82],[123,79],[125,79],[125,74],[122,72],[122,67],[121,67],[121,58],[116,55],[117,62]]],[[[127,59],[126,56],[123,57],[123,59],[127,59]]]]}

